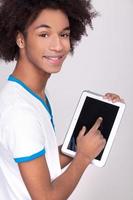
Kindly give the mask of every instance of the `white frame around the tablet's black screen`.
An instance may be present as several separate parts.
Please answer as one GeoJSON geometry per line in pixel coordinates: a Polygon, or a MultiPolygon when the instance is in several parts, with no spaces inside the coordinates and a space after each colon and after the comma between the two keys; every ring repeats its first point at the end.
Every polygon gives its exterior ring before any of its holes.
{"type": "Polygon", "coordinates": [[[74,128],[76,126],[76,123],[78,121],[79,115],[81,113],[82,107],[84,105],[84,102],[86,100],[86,97],[90,97],[90,98],[93,98],[93,99],[96,99],[96,100],[100,100],[102,102],[112,104],[112,105],[119,107],[119,110],[117,112],[114,124],[113,124],[111,132],[110,132],[110,135],[108,137],[108,141],[107,141],[106,146],[104,148],[104,151],[102,153],[101,160],[98,160],[98,159],[92,160],[92,164],[94,164],[95,166],[103,167],[106,163],[106,160],[107,160],[107,157],[108,157],[109,152],[111,150],[111,147],[112,147],[118,126],[120,124],[120,121],[121,121],[121,118],[122,118],[122,115],[123,115],[123,112],[124,112],[124,109],[125,109],[125,103],[122,103],[122,102],[113,103],[113,102],[111,102],[107,99],[104,99],[102,95],[99,95],[99,94],[96,94],[96,93],[93,93],[93,92],[90,92],[90,91],[83,91],[82,95],[79,99],[77,108],[75,110],[74,116],[72,118],[72,121],[70,123],[69,130],[66,134],[66,137],[65,137],[65,140],[64,140],[64,143],[62,145],[61,150],[64,154],[66,154],[68,156],[74,157],[76,155],[76,152],[68,149],[68,145],[69,145],[70,139],[72,137],[74,128]]]}

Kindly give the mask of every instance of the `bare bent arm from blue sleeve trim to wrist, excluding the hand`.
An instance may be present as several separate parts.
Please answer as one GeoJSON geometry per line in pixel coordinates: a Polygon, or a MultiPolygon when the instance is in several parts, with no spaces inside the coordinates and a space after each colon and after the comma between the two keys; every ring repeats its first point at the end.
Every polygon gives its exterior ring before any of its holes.
{"type": "Polygon", "coordinates": [[[66,200],[89,163],[89,159],[80,155],[75,157],[67,170],[53,182],[45,157],[21,163],[19,169],[32,200],[66,200]]]}

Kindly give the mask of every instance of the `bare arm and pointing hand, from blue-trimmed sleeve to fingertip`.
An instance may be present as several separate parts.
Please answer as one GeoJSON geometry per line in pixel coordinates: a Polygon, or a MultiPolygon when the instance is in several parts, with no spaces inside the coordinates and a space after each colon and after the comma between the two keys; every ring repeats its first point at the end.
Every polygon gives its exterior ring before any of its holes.
{"type": "Polygon", "coordinates": [[[105,140],[98,130],[100,124],[101,119],[98,119],[86,135],[85,128],[80,131],[75,158],[66,171],[53,182],[45,156],[18,164],[32,200],[66,200],[70,196],[86,167],[104,148],[105,140]]]}

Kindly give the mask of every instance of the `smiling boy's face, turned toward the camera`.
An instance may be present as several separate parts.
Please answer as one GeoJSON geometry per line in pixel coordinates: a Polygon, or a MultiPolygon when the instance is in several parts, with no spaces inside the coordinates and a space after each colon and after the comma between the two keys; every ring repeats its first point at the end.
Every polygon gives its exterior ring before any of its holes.
{"type": "Polygon", "coordinates": [[[70,52],[68,17],[61,10],[45,9],[27,29],[21,60],[46,73],[59,72],[70,52]]]}

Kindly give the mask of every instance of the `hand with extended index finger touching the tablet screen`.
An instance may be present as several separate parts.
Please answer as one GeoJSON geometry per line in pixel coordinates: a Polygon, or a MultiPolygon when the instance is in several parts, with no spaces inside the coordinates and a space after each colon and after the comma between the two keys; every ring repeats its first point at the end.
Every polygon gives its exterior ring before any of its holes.
{"type": "Polygon", "coordinates": [[[99,117],[87,133],[86,127],[83,127],[77,137],[77,155],[80,154],[82,158],[90,162],[100,154],[106,144],[106,140],[98,129],[102,120],[99,117]]]}

